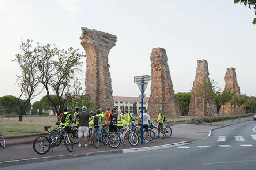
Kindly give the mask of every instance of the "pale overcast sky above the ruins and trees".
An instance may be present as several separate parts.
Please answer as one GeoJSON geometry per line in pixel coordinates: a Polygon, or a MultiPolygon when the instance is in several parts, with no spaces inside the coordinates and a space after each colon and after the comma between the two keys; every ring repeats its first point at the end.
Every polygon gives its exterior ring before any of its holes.
{"type": "MultiPolygon", "coordinates": [[[[20,95],[14,85],[19,67],[11,62],[20,39],[84,52],[80,27],[117,36],[109,53],[113,95],[139,96],[133,77],[151,74],[151,50],[162,47],[175,92],[191,90],[197,60],[206,59],[220,87],[226,68],[234,67],[241,93],[256,96],[253,17],[253,10],[233,0],[0,0],[0,96],[20,95]]],[[[86,59],[83,68],[84,85],[86,59]]]]}

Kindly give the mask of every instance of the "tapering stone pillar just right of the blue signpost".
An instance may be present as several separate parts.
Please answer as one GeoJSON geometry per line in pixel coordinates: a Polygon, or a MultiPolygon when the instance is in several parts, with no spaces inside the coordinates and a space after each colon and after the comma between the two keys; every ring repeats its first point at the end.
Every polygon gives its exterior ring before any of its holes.
{"type": "Polygon", "coordinates": [[[157,117],[158,107],[163,109],[167,118],[180,117],[180,106],[174,97],[174,90],[168,58],[163,48],[153,48],[151,53],[151,92],[148,113],[157,117]]]}

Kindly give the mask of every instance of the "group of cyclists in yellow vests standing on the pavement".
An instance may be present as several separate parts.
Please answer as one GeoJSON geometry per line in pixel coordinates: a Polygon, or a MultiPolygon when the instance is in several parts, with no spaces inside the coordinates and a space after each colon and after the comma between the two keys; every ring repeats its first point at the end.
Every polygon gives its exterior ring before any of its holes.
{"type": "MultiPolygon", "coordinates": [[[[85,137],[85,147],[88,147],[87,144],[87,138],[89,134],[91,136],[95,134],[97,131],[100,133],[102,126],[105,126],[105,128],[108,128],[109,132],[116,132],[117,129],[123,129],[125,126],[130,124],[131,120],[133,120],[133,115],[125,109],[124,114],[117,111],[116,106],[108,107],[106,109],[106,112],[103,112],[102,108],[97,109],[95,112],[91,111],[90,113],[87,112],[86,106],[83,106],[82,112],[79,112],[80,107],[75,107],[75,113],[74,116],[72,116],[71,111],[73,110],[70,106],[65,107],[63,109],[63,113],[58,116],[59,120],[61,120],[61,126],[65,128],[65,131],[68,133],[69,138],[71,139],[71,132],[72,128],[70,127],[70,124],[73,122],[77,124],[78,126],[78,137],[79,137],[79,144],[78,147],[82,147],[82,137],[85,137]]],[[[154,120],[159,124],[158,131],[162,131],[162,134],[164,133],[163,123],[165,121],[165,114],[162,112],[162,108],[158,108],[158,116],[154,120]]],[[[153,121],[153,122],[154,122],[153,121]]],[[[141,110],[139,110],[139,118],[138,118],[138,124],[141,123],[141,110]]],[[[145,143],[147,143],[147,137],[148,137],[148,128],[150,124],[150,116],[147,114],[147,110],[143,109],[143,128],[146,132],[146,140],[145,143]]],[[[158,133],[158,138],[159,138],[158,133]]],[[[162,139],[164,139],[164,135],[162,139]]],[[[89,145],[92,144],[93,137],[90,138],[89,145]]]]}

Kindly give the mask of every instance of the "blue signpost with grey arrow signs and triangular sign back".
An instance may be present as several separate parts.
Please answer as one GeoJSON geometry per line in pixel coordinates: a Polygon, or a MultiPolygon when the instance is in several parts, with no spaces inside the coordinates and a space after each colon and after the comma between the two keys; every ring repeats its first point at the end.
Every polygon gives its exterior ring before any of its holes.
{"type": "Polygon", "coordinates": [[[140,91],[141,91],[141,144],[143,145],[143,98],[144,98],[144,91],[147,88],[148,82],[151,80],[150,75],[144,76],[135,76],[134,83],[137,83],[140,91]]]}

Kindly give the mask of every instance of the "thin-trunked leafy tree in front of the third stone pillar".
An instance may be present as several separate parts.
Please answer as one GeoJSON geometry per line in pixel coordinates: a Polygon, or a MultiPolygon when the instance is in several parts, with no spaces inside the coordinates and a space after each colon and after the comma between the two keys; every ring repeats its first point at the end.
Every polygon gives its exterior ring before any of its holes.
{"type": "Polygon", "coordinates": [[[217,98],[215,93],[216,84],[214,80],[209,80],[206,76],[202,79],[202,83],[196,83],[195,95],[202,99],[205,99],[210,107],[210,125],[211,125],[211,104],[217,98]]]}

